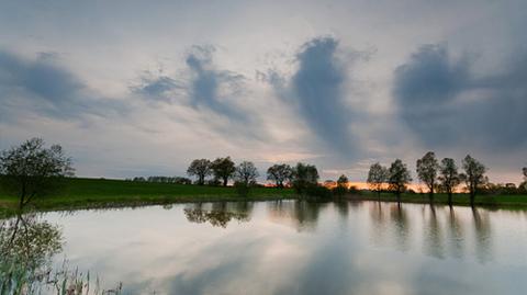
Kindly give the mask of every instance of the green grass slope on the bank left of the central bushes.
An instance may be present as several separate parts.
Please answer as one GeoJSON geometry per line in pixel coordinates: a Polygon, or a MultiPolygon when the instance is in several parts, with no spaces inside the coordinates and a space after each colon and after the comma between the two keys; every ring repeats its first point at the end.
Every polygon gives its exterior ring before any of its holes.
{"type": "MultiPolygon", "coordinates": [[[[291,189],[255,188],[240,197],[232,186],[184,185],[172,183],[132,182],[105,179],[68,179],[65,189],[56,194],[35,198],[32,205],[40,211],[135,206],[184,202],[265,201],[293,198],[291,189]]],[[[16,207],[16,197],[0,191],[0,209],[16,207]]]]}

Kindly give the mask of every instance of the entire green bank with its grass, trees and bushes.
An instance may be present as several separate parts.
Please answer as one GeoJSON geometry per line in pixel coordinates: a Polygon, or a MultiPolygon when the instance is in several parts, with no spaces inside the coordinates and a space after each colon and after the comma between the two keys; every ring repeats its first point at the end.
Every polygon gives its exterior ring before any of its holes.
{"type": "MultiPolygon", "coordinates": [[[[23,209],[29,205],[46,211],[282,198],[527,206],[526,182],[519,186],[492,184],[485,175],[486,167],[470,155],[462,160],[461,167],[462,172],[458,171],[453,159],[438,161],[433,151],[427,152],[416,162],[417,178],[428,188],[419,193],[408,189],[412,173],[401,159],[389,168],[373,163],[367,179],[370,190],[362,191],[350,186],[344,174],[336,182],[321,183],[317,168],[303,162],[271,166],[267,180],[272,183],[265,186],[257,182],[259,172],[253,162],[236,164],[231,157],[192,160],[187,173],[195,178],[194,182],[183,177],[82,179],[74,178],[71,160],[60,146],[46,149],[42,139],[33,138],[1,154],[0,211],[23,209]]],[[[527,168],[523,173],[527,181],[527,168]]]]}

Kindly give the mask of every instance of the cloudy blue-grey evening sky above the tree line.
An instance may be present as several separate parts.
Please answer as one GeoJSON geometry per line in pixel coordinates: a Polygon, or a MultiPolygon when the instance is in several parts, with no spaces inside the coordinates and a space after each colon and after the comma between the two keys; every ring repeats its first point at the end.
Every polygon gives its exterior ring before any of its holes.
{"type": "Polygon", "coordinates": [[[60,144],[79,177],[195,158],[365,181],[428,150],[492,182],[527,166],[527,2],[3,1],[0,149],[60,144]]]}

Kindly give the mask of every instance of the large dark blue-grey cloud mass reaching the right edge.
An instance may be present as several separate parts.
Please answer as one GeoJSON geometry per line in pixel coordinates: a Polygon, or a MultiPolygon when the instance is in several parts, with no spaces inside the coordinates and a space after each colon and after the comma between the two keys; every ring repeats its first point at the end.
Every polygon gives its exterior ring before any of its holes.
{"type": "Polygon", "coordinates": [[[425,45],[394,72],[393,97],[406,125],[428,147],[517,149],[527,141],[527,53],[492,73],[473,55],[453,59],[425,45]]]}

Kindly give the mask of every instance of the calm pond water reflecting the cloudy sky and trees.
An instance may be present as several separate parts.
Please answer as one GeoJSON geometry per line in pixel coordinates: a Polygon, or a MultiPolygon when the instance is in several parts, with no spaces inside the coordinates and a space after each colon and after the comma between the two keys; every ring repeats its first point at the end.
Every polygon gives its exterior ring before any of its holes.
{"type": "Polygon", "coordinates": [[[66,258],[125,294],[527,294],[527,212],[392,203],[48,213],[66,258]]]}

